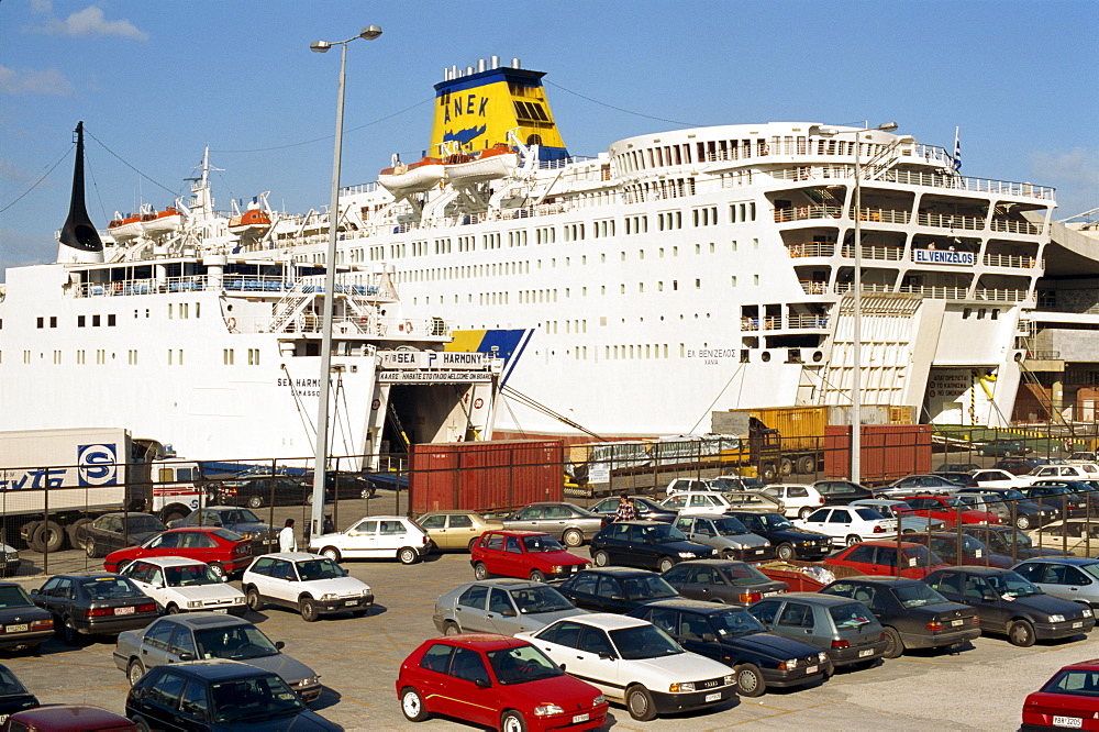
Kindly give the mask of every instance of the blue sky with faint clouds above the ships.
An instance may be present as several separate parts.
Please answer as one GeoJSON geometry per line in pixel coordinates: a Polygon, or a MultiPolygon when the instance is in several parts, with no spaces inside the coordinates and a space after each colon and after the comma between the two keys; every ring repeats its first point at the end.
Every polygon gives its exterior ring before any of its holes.
{"type": "Polygon", "coordinates": [[[384,35],[348,49],[343,185],[426,147],[444,67],[499,55],[548,73],[576,154],[682,126],[896,120],[945,147],[959,126],[964,174],[1054,186],[1058,218],[1099,206],[1099,0],[7,0],[0,268],[54,256],[78,120],[100,229],[185,192],[207,144],[219,206],[269,190],[323,207],[340,58],[309,43],[369,24],[384,35]]]}

